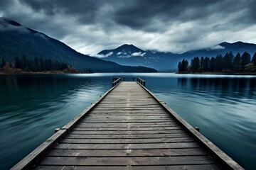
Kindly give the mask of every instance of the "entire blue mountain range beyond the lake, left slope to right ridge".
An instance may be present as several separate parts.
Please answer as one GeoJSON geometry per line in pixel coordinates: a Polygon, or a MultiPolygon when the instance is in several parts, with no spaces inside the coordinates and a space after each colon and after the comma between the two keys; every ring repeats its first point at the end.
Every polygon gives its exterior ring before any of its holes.
{"type": "Polygon", "coordinates": [[[225,55],[226,52],[242,54],[246,51],[251,55],[256,52],[256,45],[246,42],[221,42],[212,47],[191,50],[182,54],[144,50],[132,44],[124,44],[112,50],[102,50],[94,57],[90,57],[76,52],[63,42],[50,38],[44,33],[3,17],[0,18],[0,38],[0,57],[6,58],[7,61],[14,61],[15,57],[22,55],[31,59],[43,57],[65,62],[81,71],[90,69],[93,72],[155,72],[153,69],[144,67],[174,72],[178,62],[183,59],[190,61],[193,57],[215,57],[225,55]],[[122,67],[119,64],[137,66],[137,68],[122,67]]]}

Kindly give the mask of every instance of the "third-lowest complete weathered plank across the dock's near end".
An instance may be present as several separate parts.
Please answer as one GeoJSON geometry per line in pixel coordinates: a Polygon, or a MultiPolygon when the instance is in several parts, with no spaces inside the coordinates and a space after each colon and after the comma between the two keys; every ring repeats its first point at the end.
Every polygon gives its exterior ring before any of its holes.
{"type": "Polygon", "coordinates": [[[156,144],[58,144],[55,149],[172,149],[200,147],[196,142],[156,144]]]}

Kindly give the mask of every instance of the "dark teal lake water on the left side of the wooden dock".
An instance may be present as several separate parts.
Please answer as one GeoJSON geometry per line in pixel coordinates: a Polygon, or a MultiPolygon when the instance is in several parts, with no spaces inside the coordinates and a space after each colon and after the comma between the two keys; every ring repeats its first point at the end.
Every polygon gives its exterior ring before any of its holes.
{"type": "Polygon", "coordinates": [[[0,77],[0,169],[9,169],[111,87],[111,77],[0,77]]]}

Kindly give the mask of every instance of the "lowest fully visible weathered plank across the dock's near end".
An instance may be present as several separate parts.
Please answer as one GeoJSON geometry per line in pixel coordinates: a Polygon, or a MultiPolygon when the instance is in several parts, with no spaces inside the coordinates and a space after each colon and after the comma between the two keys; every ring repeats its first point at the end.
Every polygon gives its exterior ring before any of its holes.
{"type": "Polygon", "coordinates": [[[45,157],[41,165],[136,166],[214,164],[206,156],[191,157],[45,157]]]}

